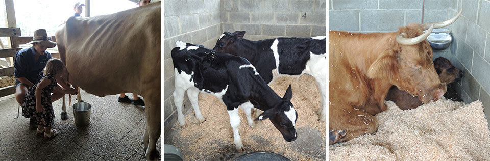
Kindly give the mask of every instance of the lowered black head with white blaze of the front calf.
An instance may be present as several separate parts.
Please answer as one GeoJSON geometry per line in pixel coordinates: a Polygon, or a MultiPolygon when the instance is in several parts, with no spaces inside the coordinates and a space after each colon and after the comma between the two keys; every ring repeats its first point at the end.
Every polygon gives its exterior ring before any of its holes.
{"type": "Polygon", "coordinates": [[[296,140],[297,133],[295,129],[298,113],[290,102],[292,97],[291,85],[286,90],[282,101],[272,109],[264,111],[255,120],[271,120],[272,124],[281,132],[284,140],[291,142],[296,140]]]}

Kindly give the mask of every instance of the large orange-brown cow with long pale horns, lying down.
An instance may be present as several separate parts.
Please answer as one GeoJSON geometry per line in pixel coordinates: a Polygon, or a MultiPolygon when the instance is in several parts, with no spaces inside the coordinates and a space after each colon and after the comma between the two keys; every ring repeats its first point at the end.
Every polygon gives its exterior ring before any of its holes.
{"type": "Polygon", "coordinates": [[[410,24],[391,33],[329,32],[329,144],[375,132],[374,115],[386,110],[391,86],[437,101],[446,92],[432,63],[425,39],[434,28],[459,17],[426,24],[410,24]],[[428,29],[426,32],[423,32],[428,29]]]}

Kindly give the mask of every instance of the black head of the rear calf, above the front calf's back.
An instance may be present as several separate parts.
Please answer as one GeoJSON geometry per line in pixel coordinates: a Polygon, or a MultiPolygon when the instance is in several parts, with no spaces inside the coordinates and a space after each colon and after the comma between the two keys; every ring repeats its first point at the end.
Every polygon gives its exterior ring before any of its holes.
{"type": "Polygon", "coordinates": [[[236,55],[236,41],[243,39],[245,31],[235,31],[234,33],[224,32],[216,42],[213,50],[230,53],[236,55]]]}

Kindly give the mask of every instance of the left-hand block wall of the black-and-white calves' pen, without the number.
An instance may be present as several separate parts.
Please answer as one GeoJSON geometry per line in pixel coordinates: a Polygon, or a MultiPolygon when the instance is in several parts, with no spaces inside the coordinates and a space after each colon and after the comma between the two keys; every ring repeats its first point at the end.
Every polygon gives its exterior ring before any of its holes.
{"type": "MultiPolygon", "coordinates": [[[[181,40],[213,48],[222,33],[220,0],[166,0],[164,5],[164,131],[177,121],[174,103],[174,64],[170,51],[181,40]]],[[[183,112],[192,109],[187,94],[183,112]]]]}

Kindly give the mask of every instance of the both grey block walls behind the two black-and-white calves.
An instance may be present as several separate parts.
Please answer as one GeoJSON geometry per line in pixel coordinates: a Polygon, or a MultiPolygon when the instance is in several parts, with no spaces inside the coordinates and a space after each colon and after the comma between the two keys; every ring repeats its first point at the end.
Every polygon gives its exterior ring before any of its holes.
{"type": "MultiPolygon", "coordinates": [[[[177,40],[213,48],[224,31],[246,31],[244,38],[325,35],[326,0],[167,0],[164,5],[164,132],[177,122],[174,64],[177,40]],[[301,16],[306,12],[306,19],[301,16]]],[[[192,109],[184,96],[183,112],[192,109]]]]}

